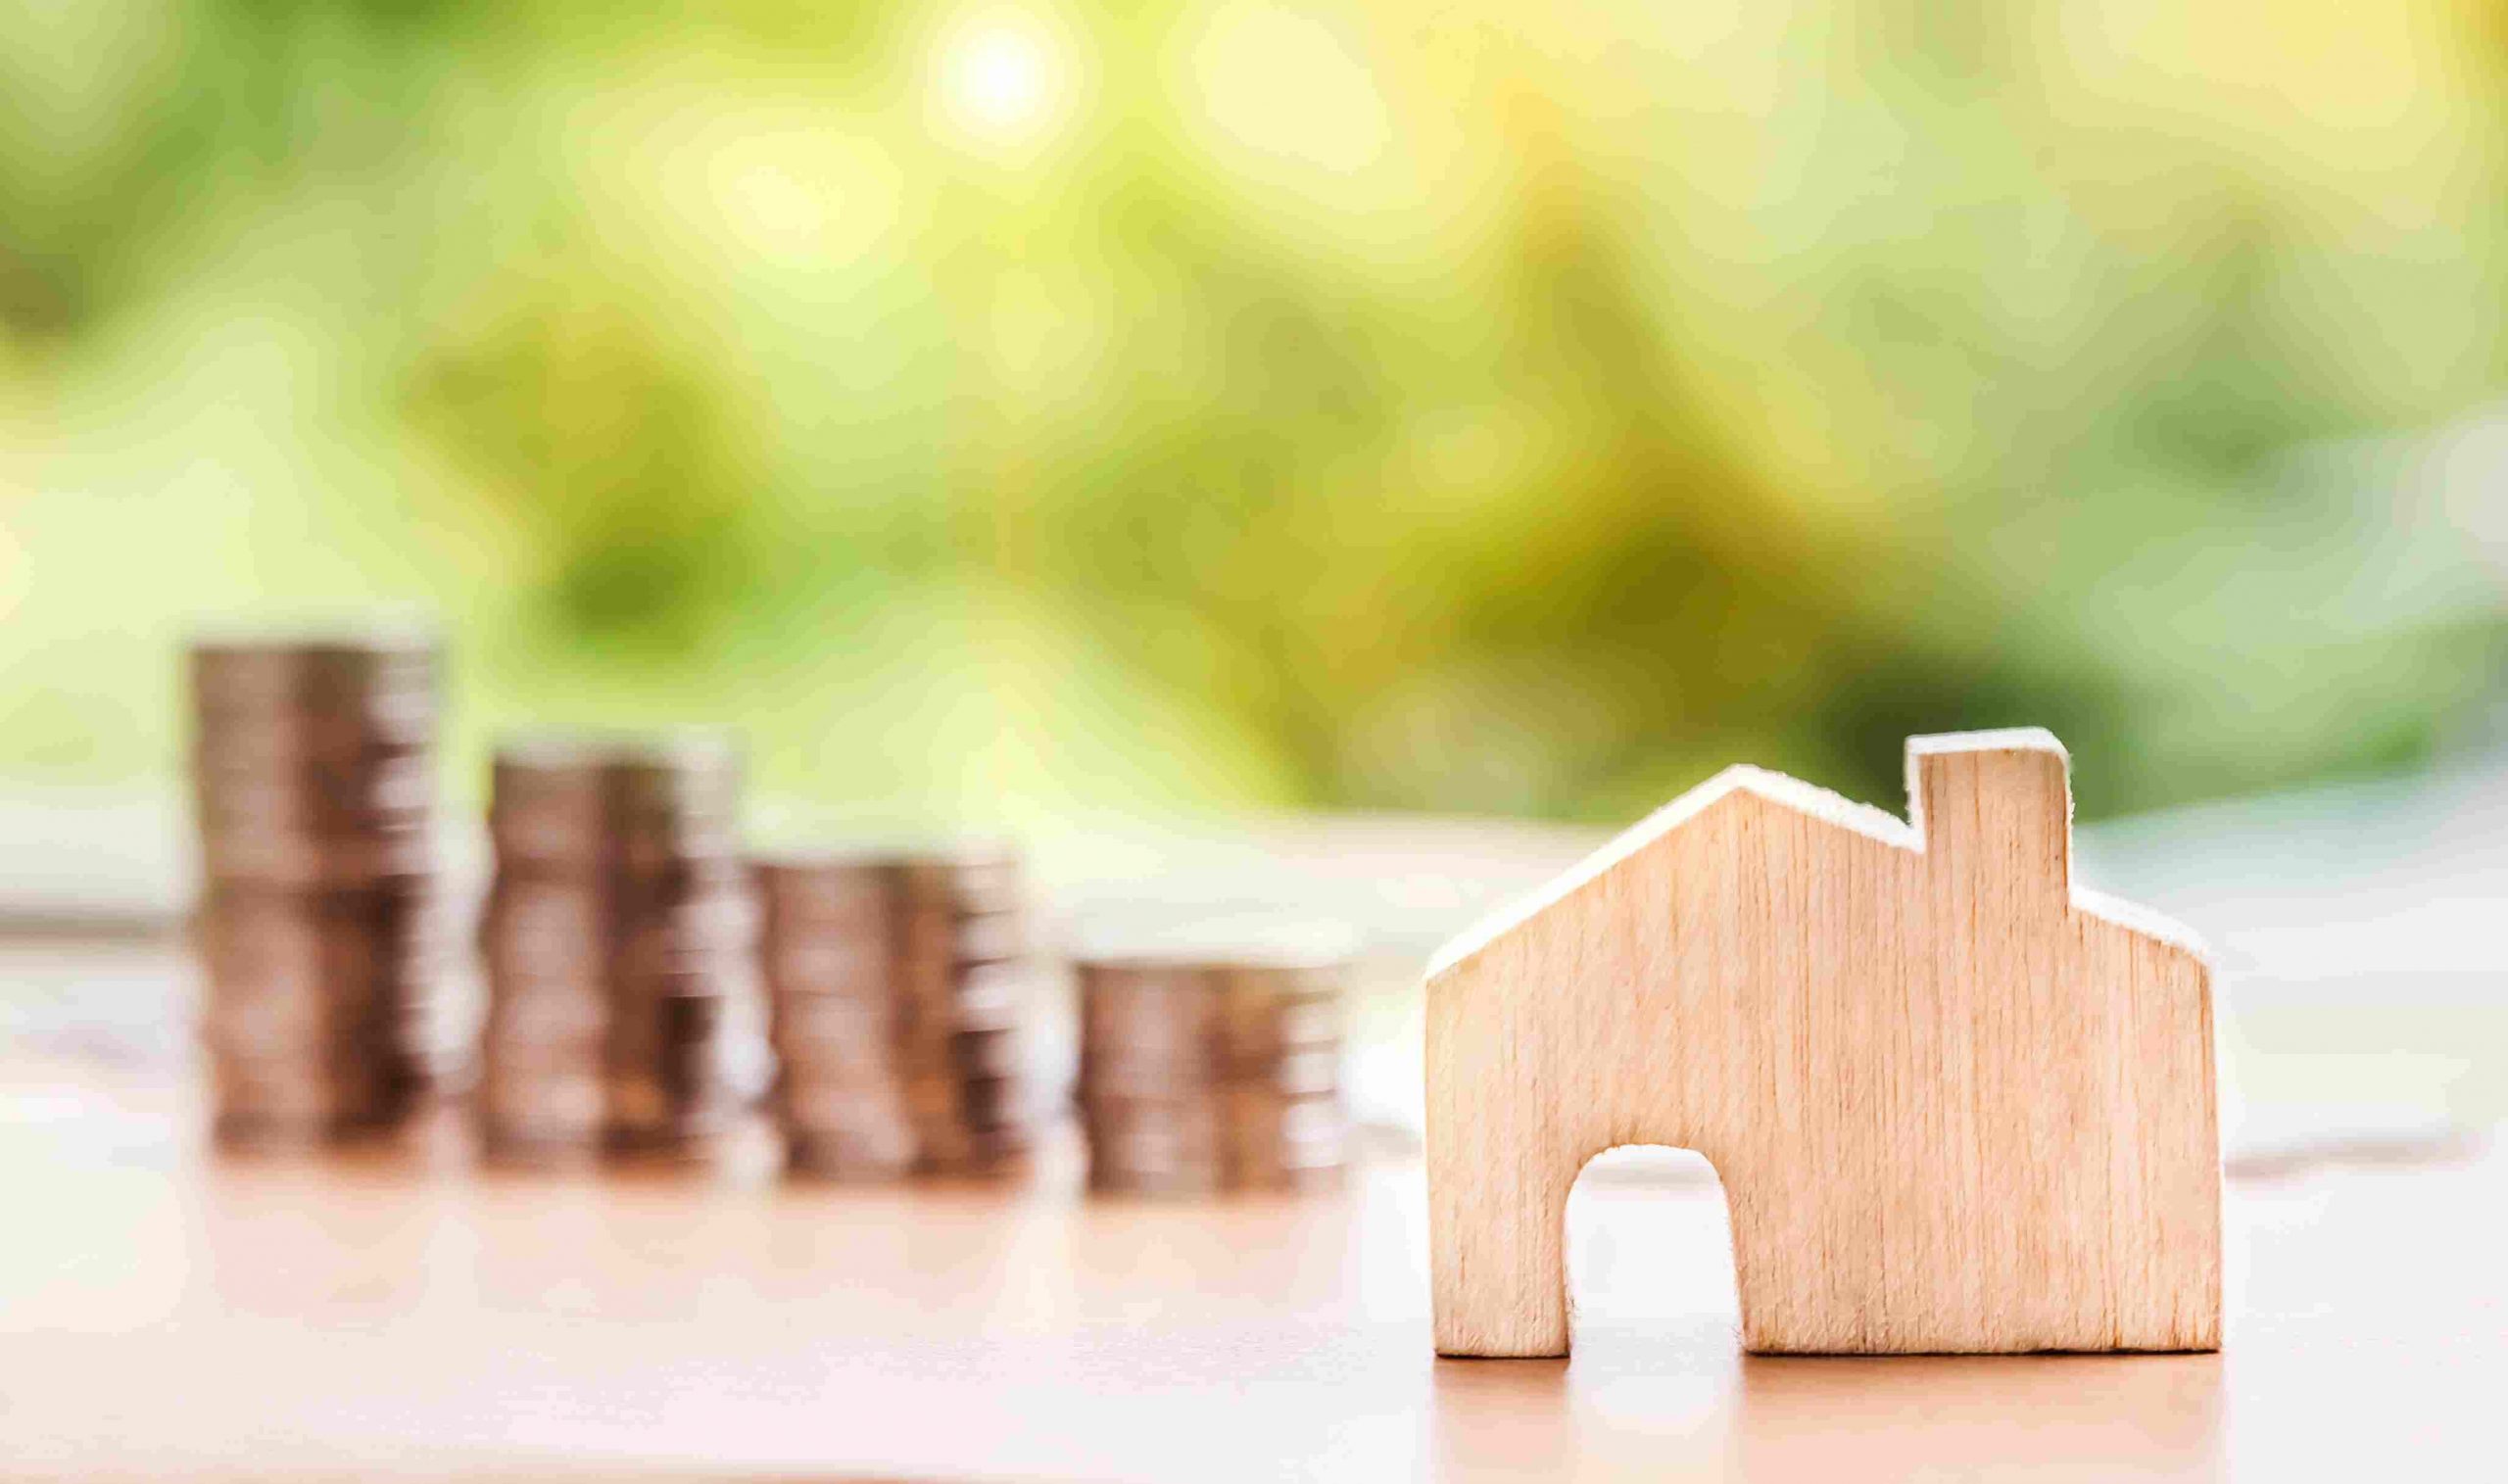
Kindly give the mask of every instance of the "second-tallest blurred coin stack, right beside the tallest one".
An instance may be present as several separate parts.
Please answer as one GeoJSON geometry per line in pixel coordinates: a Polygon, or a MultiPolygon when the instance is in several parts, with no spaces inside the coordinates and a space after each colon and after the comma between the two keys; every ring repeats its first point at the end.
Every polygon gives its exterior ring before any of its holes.
{"type": "Polygon", "coordinates": [[[765,1080],[737,750],[542,739],[494,777],[489,1151],[722,1153],[765,1080]]]}

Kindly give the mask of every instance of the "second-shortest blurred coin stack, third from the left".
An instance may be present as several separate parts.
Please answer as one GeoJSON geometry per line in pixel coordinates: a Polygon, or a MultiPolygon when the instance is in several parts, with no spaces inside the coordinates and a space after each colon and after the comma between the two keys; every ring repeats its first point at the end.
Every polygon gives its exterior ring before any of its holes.
{"type": "Polygon", "coordinates": [[[1018,860],[998,845],[757,865],[795,1168],[1001,1171],[1028,1151],[1018,860]]]}

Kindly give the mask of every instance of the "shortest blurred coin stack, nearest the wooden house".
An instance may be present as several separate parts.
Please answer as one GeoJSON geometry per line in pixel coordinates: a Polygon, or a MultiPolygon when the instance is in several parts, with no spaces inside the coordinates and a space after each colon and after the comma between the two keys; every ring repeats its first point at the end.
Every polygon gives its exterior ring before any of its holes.
{"type": "Polygon", "coordinates": [[[1126,1193],[1294,1191],[1339,1178],[1349,963],[1279,935],[1093,953],[1081,983],[1088,1183],[1126,1193]]]}

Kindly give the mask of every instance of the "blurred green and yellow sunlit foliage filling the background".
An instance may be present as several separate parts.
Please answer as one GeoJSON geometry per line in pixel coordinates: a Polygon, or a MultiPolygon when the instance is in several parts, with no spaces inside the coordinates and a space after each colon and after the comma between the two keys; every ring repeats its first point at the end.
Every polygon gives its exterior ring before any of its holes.
{"type": "Polygon", "coordinates": [[[0,0],[0,777],[406,599],[835,810],[2403,767],[2508,672],[2488,5],[0,0]]]}

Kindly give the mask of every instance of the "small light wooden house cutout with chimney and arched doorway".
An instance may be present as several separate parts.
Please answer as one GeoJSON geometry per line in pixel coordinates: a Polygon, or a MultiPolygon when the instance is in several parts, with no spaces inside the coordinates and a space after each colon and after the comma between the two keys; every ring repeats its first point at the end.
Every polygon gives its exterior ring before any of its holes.
{"type": "Polygon", "coordinates": [[[1731,770],[1437,958],[1440,1354],[1568,1354],[1625,1143],[1715,1166],[1751,1351],[2220,1346],[2210,968],[2072,890],[2047,732],[1916,737],[1909,795],[1731,770]]]}

